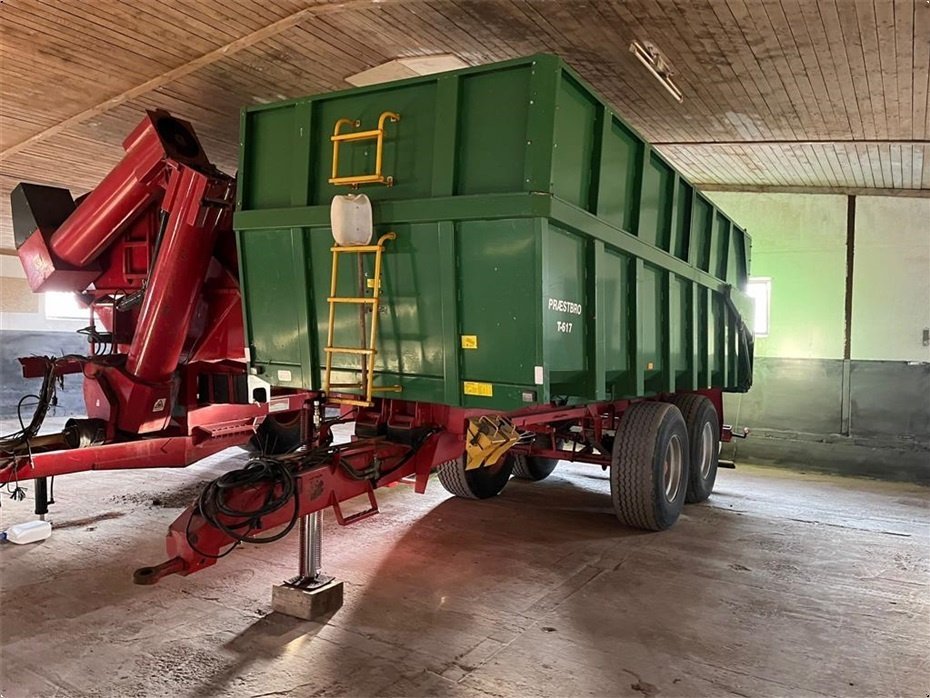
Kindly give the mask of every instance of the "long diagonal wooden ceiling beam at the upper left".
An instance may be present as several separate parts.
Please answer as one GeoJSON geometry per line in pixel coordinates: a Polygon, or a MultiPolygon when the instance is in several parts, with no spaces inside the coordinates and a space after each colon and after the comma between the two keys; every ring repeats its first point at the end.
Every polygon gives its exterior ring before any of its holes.
{"type": "MultiPolygon", "coordinates": [[[[405,1],[409,0],[380,0],[381,4],[399,4],[405,1]]],[[[238,51],[249,48],[250,46],[254,46],[255,44],[280,34],[281,32],[286,31],[311,17],[317,15],[335,14],[360,8],[370,8],[371,5],[371,0],[346,0],[345,2],[305,7],[304,9],[298,10],[297,12],[290,14],[287,17],[283,17],[276,22],[272,22],[271,24],[262,27],[261,29],[257,29],[251,34],[246,34],[245,36],[239,37],[234,41],[230,41],[224,46],[220,46],[213,51],[209,51],[202,56],[198,56],[194,60],[185,63],[184,65],[172,68],[171,70],[162,73],[161,75],[157,75],[150,80],[146,80],[140,85],[136,85],[135,87],[131,87],[117,95],[113,95],[103,102],[95,104],[94,106],[88,107],[87,109],[84,109],[77,114],[69,116],[67,119],[59,121],[57,124],[49,126],[42,131],[38,131],[37,133],[28,136],[18,143],[14,143],[4,151],[0,152],[0,160],[4,160],[12,155],[16,155],[34,143],[38,143],[39,141],[43,141],[46,138],[55,136],[72,126],[80,124],[88,119],[92,119],[99,114],[103,114],[104,112],[107,112],[110,109],[123,104],[124,102],[128,102],[132,99],[135,99],[136,97],[141,97],[142,95],[147,94],[153,90],[164,87],[165,85],[174,82],[175,80],[178,80],[186,75],[190,75],[191,73],[200,70],[201,68],[204,68],[211,63],[215,63],[216,61],[219,61],[226,56],[237,53],[238,51]]]]}

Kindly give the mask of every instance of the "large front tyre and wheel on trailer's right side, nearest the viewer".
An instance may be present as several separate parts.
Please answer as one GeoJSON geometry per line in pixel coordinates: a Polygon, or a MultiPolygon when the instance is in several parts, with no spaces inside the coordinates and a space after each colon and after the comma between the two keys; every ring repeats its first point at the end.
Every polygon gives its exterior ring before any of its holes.
{"type": "Polygon", "coordinates": [[[678,520],[688,488],[688,430],[681,412],[638,402],[620,419],[610,463],[610,496],[627,526],[661,531],[678,520]]]}

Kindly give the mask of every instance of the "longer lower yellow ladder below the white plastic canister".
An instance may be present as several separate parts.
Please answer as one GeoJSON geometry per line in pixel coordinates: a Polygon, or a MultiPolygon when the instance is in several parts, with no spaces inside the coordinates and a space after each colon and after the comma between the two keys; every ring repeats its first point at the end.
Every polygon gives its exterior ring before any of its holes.
{"type": "Polygon", "coordinates": [[[399,393],[399,385],[390,385],[384,387],[375,387],[375,355],[378,350],[375,344],[378,339],[378,311],[381,309],[381,255],[384,252],[384,243],[388,240],[396,240],[396,233],[385,233],[375,245],[347,245],[340,247],[334,245],[330,248],[333,253],[333,273],[329,286],[329,329],[326,334],[326,372],[323,378],[323,390],[326,392],[328,401],[338,405],[355,405],[357,407],[370,407],[374,404],[371,396],[374,393],[399,393]],[[338,296],[337,288],[339,282],[339,255],[341,254],[374,254],[375,255],[375,272],[373,278],[368,280],[368,286],[372,289],[370,296],[338,296]],[[367,347],[336,347],[333,346],[333,335],[336,325],[336,306],[349,303],[354,305],[367,304],[371,306],[371,331],[369,332],[367,347]],[[364,369],[365,379],[361,383],[333,383],[333,356],[336,354],[361,355],[366,357],[364,369]],[[350,390],[362,390],[364,399],[348,397],[329,397],[329,392],[334,388],[343,388],[350,390]]]}

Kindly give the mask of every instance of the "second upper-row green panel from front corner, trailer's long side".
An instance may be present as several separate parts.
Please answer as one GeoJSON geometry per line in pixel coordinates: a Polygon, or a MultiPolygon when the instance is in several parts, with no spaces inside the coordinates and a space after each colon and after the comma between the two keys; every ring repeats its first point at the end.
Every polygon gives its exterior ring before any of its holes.
{"type": "Polygon", "coordinates": [[[628,232],[634,232],[637,226],[642,154],[642,140],[611,118],[601,146],[597,214],[628,232]]]}

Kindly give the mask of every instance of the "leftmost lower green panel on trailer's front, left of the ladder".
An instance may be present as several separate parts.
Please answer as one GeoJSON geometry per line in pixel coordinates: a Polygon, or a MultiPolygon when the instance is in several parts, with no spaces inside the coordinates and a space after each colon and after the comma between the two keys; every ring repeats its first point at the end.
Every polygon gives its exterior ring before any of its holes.
{"type": "Polygon", "coordinates": [[[238,237],[252,364],[277,385],[311,385],[303,233],[258,230],[238,237]]]}

